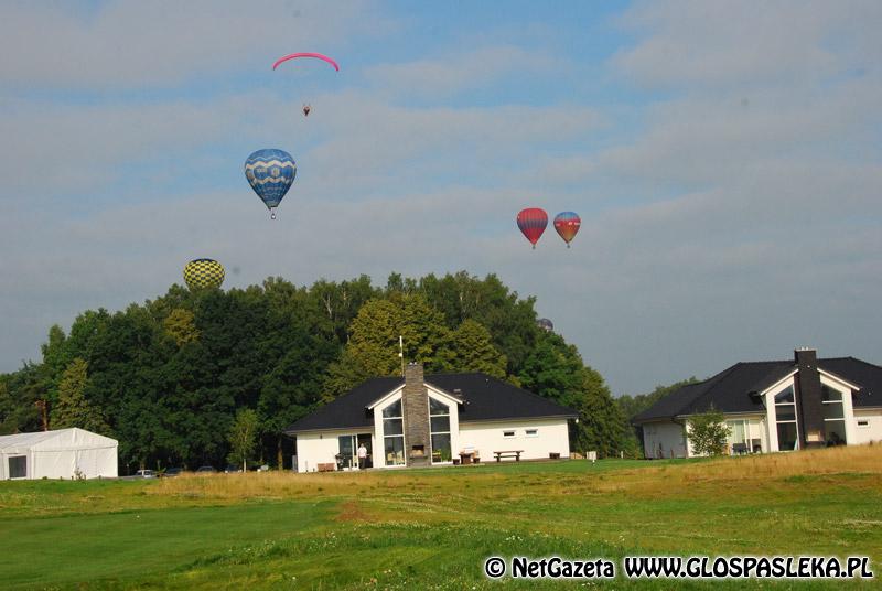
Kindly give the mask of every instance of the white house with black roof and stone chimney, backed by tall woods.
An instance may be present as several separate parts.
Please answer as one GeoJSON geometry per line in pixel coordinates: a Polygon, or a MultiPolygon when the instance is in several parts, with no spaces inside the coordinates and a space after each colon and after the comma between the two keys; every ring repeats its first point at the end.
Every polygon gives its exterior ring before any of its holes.
{"type": "Polygon", "coordinates": [[[486,374],[378,377],[294,422],[298,472],[569,458],[577,413],[486,374]]]}

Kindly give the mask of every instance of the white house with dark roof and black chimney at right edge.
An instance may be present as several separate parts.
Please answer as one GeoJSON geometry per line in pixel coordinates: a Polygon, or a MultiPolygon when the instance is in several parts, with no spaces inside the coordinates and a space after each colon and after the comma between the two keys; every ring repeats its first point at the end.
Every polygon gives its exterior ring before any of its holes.
{"type": "Polygon", "coordinates": [[[689,458],[690,417],[721,411],[730,453],[882,441],[882,367],[854,357],[747,362],[671,393],[632,419],[646,458],[689,458]]]}

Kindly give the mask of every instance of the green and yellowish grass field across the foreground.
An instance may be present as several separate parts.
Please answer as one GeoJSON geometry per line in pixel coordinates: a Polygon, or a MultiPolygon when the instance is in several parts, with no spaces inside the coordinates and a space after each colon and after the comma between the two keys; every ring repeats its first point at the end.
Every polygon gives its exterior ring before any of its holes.
{"type": "MultiPolygon", "coordinates": [[[[0,588],[714,588],[487,580],[498,555],[870,556],[882,447],[714,461],[0,483],[0,588]]],[[[621,569],[620,569],[621,570],[621,569]]],[[[839,589],[842,581],[723,587],[839,589]]]]}

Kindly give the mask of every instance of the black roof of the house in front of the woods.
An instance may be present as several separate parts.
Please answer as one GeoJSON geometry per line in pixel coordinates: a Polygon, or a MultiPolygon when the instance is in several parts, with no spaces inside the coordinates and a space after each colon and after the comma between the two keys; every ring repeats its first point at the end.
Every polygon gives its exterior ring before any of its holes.
{"type": "MultiPolygon", "coordinates": [[[[482,373],[428,375],[424,383],[462,400],[460,422],[550,417],[574,419],[578,416],[570,408],[482,373]]],[[[401,377],[368,379],[284,431],[373,429],[374,416],[367,407],[404,384],[401,377]]]]}

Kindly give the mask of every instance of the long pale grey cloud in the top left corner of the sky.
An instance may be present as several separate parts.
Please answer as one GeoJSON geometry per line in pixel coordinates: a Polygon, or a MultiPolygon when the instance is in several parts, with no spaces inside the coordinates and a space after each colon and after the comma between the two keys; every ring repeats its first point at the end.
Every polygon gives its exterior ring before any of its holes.
{"type": "Polygon", "coordinates": [[[147,88],[230,69],[269,71],[279,55],[341,50],[354,30],[389,23],[362,1],[111,1],[6,4],[0,79],[8,85],[147,88]],[[295,47],[294,47],[295,45],[295,47]]]}

